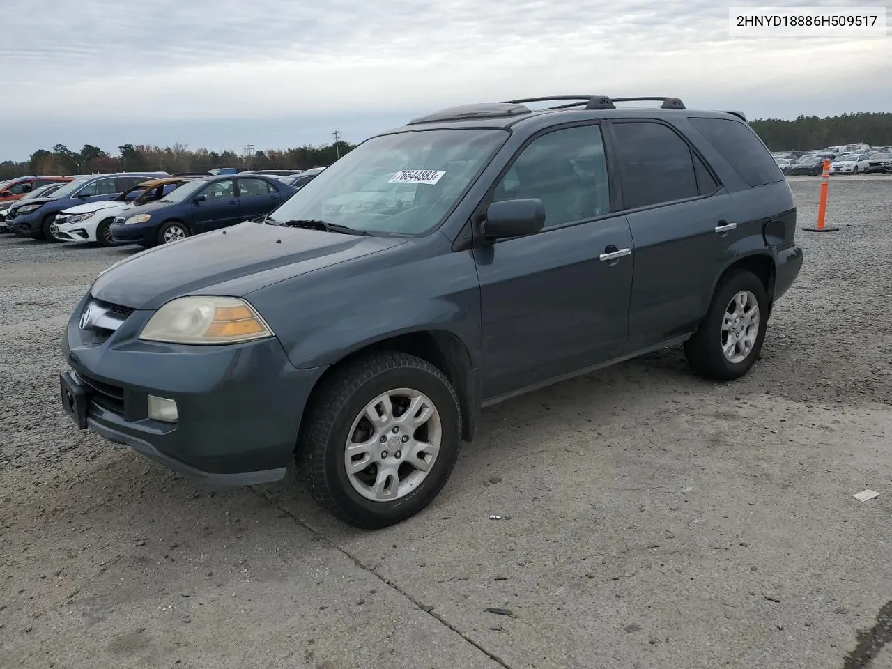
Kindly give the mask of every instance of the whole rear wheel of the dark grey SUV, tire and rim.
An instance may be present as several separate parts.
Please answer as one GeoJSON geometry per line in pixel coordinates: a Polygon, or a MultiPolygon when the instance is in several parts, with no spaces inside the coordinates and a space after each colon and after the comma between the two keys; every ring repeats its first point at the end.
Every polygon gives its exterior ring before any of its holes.
{"type": "Polygon", "coordinates": [[[698,374],[718,381],[744,376],[756,363],[768,326],[768,297],[759,277],[739,270],[725,277],[706,318],[684,343],[698,374]]]}

